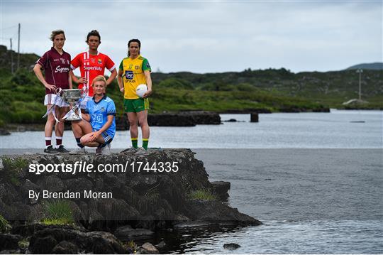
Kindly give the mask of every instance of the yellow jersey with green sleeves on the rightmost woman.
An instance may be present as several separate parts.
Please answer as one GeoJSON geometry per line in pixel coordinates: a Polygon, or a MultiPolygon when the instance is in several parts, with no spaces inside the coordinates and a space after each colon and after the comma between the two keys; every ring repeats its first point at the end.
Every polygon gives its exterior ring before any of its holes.
{"type": "Polygon", "coordinates": [[[123,71],[123,88],[125,93],[123,97],[125,99],[138,99],[138,95],[135,94],[135,89],[140,84],[146,84],[146,77],[144,71],[150,71],[150,65],[146,58],[138,56],[138,58],[124,58],[121,61],[120,70],[123,71]]]}

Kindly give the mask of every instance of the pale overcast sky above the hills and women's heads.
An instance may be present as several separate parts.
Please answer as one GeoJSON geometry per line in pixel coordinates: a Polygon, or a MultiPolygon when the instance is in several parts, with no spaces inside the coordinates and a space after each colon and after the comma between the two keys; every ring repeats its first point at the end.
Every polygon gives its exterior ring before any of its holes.
{"type": "Polygon", "coordinates": [[[382,1],[4,1],[1,45],[43,55],[63,29],[74,58],[87,33],[119,65],[126,43],[162,72],[226,72],[285,67],[343,70],[382,62],[382,1]]]}

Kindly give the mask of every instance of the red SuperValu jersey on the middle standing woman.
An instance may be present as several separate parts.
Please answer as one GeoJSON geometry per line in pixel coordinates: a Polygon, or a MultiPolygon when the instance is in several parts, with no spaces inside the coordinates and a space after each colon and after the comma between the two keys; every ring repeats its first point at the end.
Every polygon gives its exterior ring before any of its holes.
{"type": "Polygon", "coordinates": [[[77,55],[76,58],[72,60],[72,70],[76,69],[77,67],[80,68],[81,77],[84,77],[88,81],[87,84],[80,84],[79,89],[87,86],[89,89],[88,95],[91,97],[94,95],[93,88],[91,87],[91,82],[93,79],[97,75],[104,75],[105,67],[109,71],[113,71],[114,68],[116,68],[111,58],[109,58],[107,55],[102,53],[91,55],[89,54],[89,51],[79,53],[79,55],[77,55]]]}

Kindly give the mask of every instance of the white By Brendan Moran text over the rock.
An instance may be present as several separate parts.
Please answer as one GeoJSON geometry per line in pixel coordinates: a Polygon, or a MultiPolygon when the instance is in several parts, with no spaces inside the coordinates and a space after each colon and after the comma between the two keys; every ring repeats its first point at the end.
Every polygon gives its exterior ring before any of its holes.
{"type": "Polygon", "coordinates": [[[82,192],[71,192],[70,190],[64,192],[50,192],[49,190],[42,190],[41,192],[35,192],[35,190],[29,190],[29,199],[50,199],[50,198],[65,198],[65,199],[101,199],[101,198],[113,198],[112,192],[94,192],[92,190],[84,190],[82,192]]]}

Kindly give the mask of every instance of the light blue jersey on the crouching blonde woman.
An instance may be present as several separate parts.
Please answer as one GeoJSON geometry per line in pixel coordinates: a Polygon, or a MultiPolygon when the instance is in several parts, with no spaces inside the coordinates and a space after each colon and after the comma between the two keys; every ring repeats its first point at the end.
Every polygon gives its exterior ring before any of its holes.
{"type": "MultiPolygon", "coordinates": [[[[87,102],[87,113],[91,116],[91,127],[94,131],[100,130],[108,121],[108,115],[116,116],[116,106],[110,97],[104,96],[99,102],[94,102],[93,99],[87,102]]],[[[113,122],[109,129],[106,129],[106,134],[112,138],[116,134],[116,118],[113,117],[113,122]]]]}

